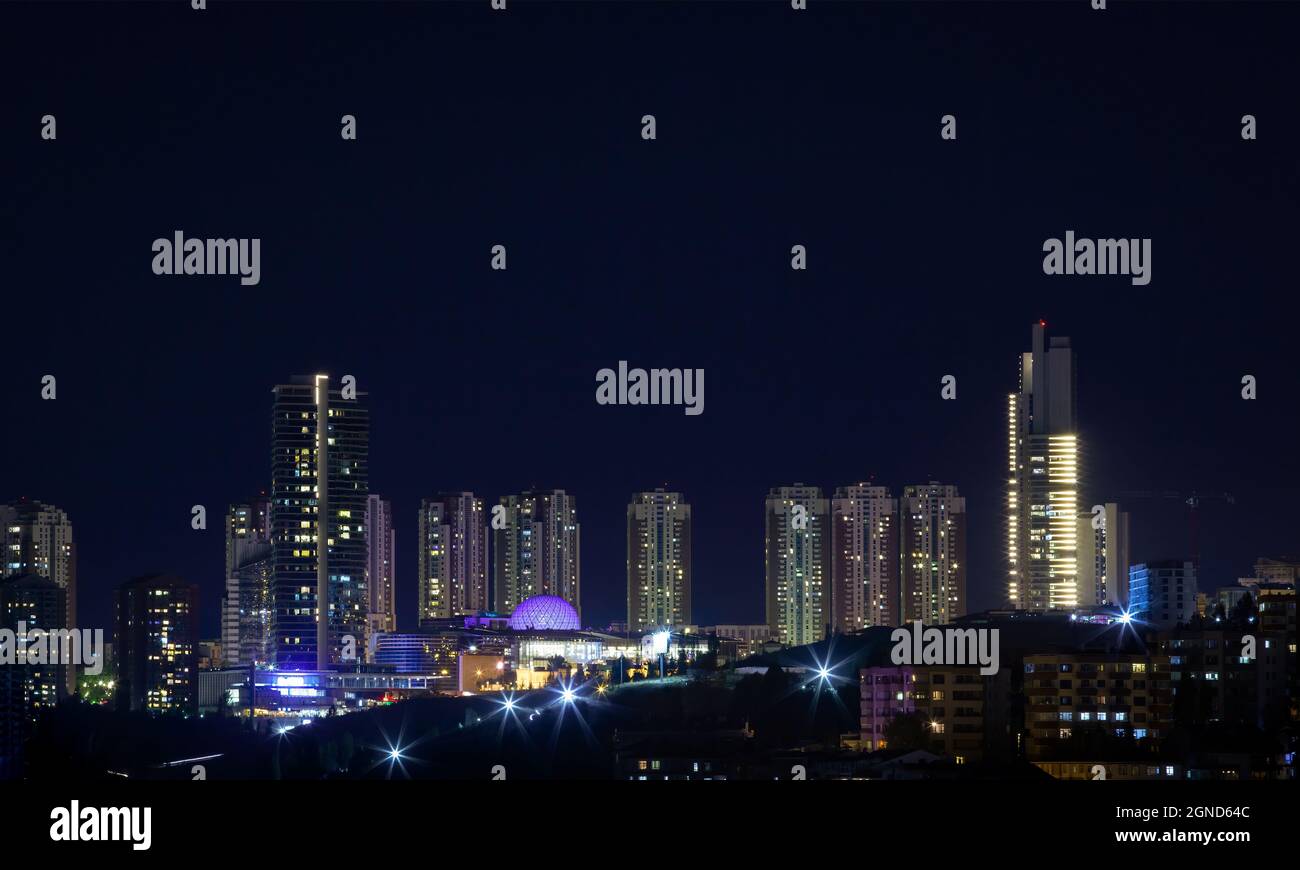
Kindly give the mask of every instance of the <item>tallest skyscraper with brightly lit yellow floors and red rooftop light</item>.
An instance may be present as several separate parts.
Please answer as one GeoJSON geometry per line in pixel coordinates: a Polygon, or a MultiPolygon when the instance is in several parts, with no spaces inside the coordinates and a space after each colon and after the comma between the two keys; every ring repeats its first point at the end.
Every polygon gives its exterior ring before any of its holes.
{"type": "Polygon", "coordinates": [[[1069,338],[1034,325],[1020,389],[1008,397],[1008,600],[1022,610],[1076,607],[1079,442],[1069,338]]]}

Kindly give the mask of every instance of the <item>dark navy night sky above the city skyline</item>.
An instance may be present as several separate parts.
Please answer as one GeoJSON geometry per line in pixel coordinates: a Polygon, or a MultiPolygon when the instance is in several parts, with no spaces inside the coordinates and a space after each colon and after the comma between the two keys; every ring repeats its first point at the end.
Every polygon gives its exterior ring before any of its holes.
{"type": "MultiPolygon", "coordinates": [[[[794,481],[958,485],[997,606],[1039,317],[1078,354],[1083,506],[1236,495],[1202,587],[1300,550],[1295,4],[209,7],[0,8],[0,499],[70,514],[83,627],[160,571],[217,633],[225,506],[269,486],[272,386],[316,371],[370,395],[403,628],[420,498],[534,485],[578,499],[590,624],[625,618],[625,506],[664,484],[701,624],[762,622],[794,481]],[[1071,229],[1152,238],[1152,282],[1044,276],[1071,229]],[[261,283],[153,276],[176,230],[261,238],[261,283]],[[705,414],[598,406],[620,359],[703,368],[705,414]]],[[[1127,506],[1135,560],[1188,554],[1178,501],[1127,506]]]]}

